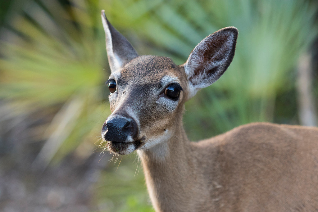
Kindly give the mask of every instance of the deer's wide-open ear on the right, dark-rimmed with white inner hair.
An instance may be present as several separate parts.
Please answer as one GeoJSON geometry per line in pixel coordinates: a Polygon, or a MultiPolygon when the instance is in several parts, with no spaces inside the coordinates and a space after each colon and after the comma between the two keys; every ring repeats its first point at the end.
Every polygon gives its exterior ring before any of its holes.
{"type": "Polygon", "coordinates": [[[189,96],[218,80],[234,57],[238,30],[226,27],[204,38],[183,64],[189,80],[189,96]]]}

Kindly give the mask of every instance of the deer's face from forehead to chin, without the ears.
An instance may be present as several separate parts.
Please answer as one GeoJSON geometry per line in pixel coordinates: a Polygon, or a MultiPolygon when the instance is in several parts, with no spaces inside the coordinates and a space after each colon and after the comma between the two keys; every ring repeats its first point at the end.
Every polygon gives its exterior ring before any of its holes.
{"type": "Polygon", "coordinates": [[[102,127],[109,150],[129,154],[168,140],[181,113],[186,81],[182,67],[156,56],[137,57],[112,73],[107,80],[112,114],[102,127]]]}

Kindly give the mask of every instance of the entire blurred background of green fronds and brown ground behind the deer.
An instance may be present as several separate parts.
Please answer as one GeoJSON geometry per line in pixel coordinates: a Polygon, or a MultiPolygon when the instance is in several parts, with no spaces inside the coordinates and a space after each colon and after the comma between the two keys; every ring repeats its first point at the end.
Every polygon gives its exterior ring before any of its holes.
{"type": "Polygon", "coordinates": [[[177,65],[239,29],[228,70],[186,104],[190,140],[255,121],[317,125],[314,0],[2,0],[0,211],[153,211],[137,156],[98,147],[110,114],[102,9],[139,54],[177,65]]]}

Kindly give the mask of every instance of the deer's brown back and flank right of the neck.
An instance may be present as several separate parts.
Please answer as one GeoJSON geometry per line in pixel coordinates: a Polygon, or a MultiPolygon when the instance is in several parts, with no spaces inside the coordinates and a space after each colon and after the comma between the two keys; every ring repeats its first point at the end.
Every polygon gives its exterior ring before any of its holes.
{"type": "Polygon", "coordinates": [[[253,123],[196,145],[214,158],[207,183],[220,210],[318,210],[318,128],[253,123]]]}

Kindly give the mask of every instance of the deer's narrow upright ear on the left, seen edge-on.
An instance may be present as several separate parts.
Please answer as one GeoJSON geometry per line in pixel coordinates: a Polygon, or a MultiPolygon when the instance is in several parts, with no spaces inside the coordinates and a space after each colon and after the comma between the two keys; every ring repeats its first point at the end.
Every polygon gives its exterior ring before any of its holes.
{"type": "Polygon", "coordinates": [[[130,60],[138,57],[138,54],[128,40],[109,23],[104,10],[101,11],[101,20],[106,36],[110,70],[112,73],[117,72],[130,60]]]}

